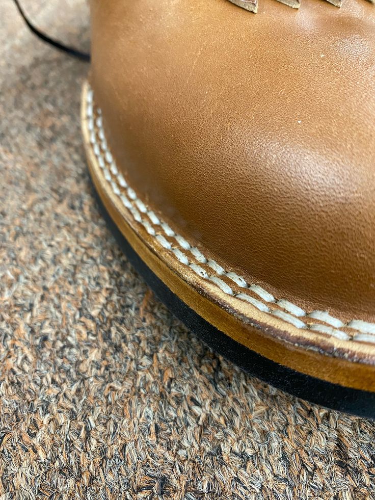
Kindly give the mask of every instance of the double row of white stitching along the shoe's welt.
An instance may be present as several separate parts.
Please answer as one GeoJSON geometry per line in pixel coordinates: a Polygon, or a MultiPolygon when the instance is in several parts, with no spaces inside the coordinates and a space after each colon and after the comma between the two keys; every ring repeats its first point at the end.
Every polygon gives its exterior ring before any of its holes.
{"type": "MultiPolygon", "coordinates": [[[[92,90],[88,91],[87,99],[88,99],[87,100],[88,106],[87,106],[86,114],[88,116],[87,121],[88,121],[88,128],[89,128],[90,127],[89,124],[91,123],[91,120],[93,120],[93,112],[94,112],[94,106],[92,103],[92,100],[93,100],[92,90]],[[91,98],[89,97],[89,95],[91,95],[91,98]],[[91,99],[91,101],[90,101],[90,99],[91,99]]],[[[279,305],[280,307],[282,307],[283,309],[285,309],[289,312],[284,312],[284,311],[279,310],[279,309],[270,309],[269,307],[267,307],[265,304],[263,304],[259,300],[254,299],[253,297],[251,297],[247,294],[244,294],[244,293],[237,294],[236,298],[245,300],[245,301],[251,303],[256,308],[258,308],[259,310],[261,310],[263,312],[269,312],[269,313],[273,314],[274,316],[294,325],[297,328],[301,328],[301,329],[309,328],[309,329],[317,331],[317,332],[322,332],[322,333],[327,333],[327,334],[333,335],[333,336],[340,338],[340,339],[343,339],[343,340],[350,339],[350,336],[347,335],[347,333],[342,332],[340,330],[337,330],[337,328],[341,328],[341,327],[345,326],[345,324],[341,320],[339,320],[338,318],[332,317],[327,311],[312,311],[310,313],[306,313],[306,311],[304,311],[301,307],[299,307],[296,304],[293,304],[285,299],[279,299],[276,301],[274,296],[272,294],[270,294],[269,292],[267,292],[266,290],[264,290],[264,288],[262,288],[261,286],[256,285],[256,284],[252,284],[252,285],[248,286],[248,284],[246,283],[246,280],[243,277],[238,276],[236,273],[233,273],[233,272],[227,273],[224,270],[224,268],[222,268],[215,260],[207,260],[206,257],[202,254],[202,252],[200,250],[198,250],[198,248],[192,247],[190,245],[190,243],[187,242],[181,235],[176,234],[173,231],[173,229],[170,228],[170,226],[168,224],[160,222],[159,219],[157,218],[157,216],[151,210],[148,210],[147,206],[137,197],[136,192],[132,188],[128,187],[126,180],[124,179],[122,174],[118,172],[118,169],[117,169],[117,166],[113,160],[112,154],[107,150],[107,147],[106,147],[104,130],[102,128],[102,118],[100,116],[101,110],[99,108],[96,108],[96,113],[99,116],[96,118],[95,124],[98,127],[98,129],[100,131],[102,131],[102,134],[100,134],[100,136],[98,133],[98,137],[101,140],[101,147],[103,147],[103,145],[105,146],[105,148],[103,148],[106,151],[105,152],[105,160],[110,164],[110,170],[113,173],[113,175],[116,177],[116,179],[118,180],[120,186],[122,188],[127,188],[127,195],[129,196],[129,198],[131,200],[133,200],[135,202],[135,204],[139,208],[140,212],[145,213],[154,225],[160,225],[162,227],[162,229],[165,231],[167,236],[174,237],[174,239],[177,241],[177,243],[180,245],[180,247],[182,247],[185,250],[190,250],[191,253],[193,254],[193,256],[198,261],[202,262],[203,264],[207,264],[217,274],[219,274],[220,276],[226,276],[227,278],[231,279],[234,283],[236,283],[238,286],[243,287],[243,288],[248,288],[250,291],[257,294],[265,302],[276,303],[277,305],[279,305]],[[291,313],[291,314],[289,314],[289,313],[291,313]],[[299,320],[296,317],[310,317],[310,318],[315,319],[317,321],[322,321],[324,323],[328,323],[329,325],[331,325],[334,328],[328,327],[326,325],[321,325],[321,324],[309,324],[309,325],[307,325],[306,323],[304,323],[303,321],[299,320]]],[[[121,194],[116,183],[113,182],[110,171],[108,168],[106,168],[105,163],[104,163],[104,159],[100,153],[99,145],[96,142],[95,130],[91,130],[90,143],[93,145],[93,152],[94,152],[95,156],[97,157],[98,164],[103,169],[104,178],[109,181],[110,186],[112,187],[114,193],[117,196],[119,196],[122,203],[124,204],[124,206],[126,208],[129,209],[130,213],[133,215],[135,220],[140,222],[145,227],[145,229],[147,230],[147,232],[149,234],[154,235],[155,234],[154,228],[150,225],[150,223],[148,221],[143,220],[141,218],[141,215],[138,212],[137,208],[135,208],[131,204],[131,202],[128,200],[128,198],[124,194],[121,194]]],[[[197,266],[196,264],[194,264],[194,262],[190,263],[189,259],[186,257],[186,255],[183,252],[181,252],[179,249],[172,248],[171,243],[162,234],[157,234],[155,236],[155,238],[160,243],[160,245],[162,245],[164,248],[166,248],[168,250],[172,250],[172,252],[176,256],[176,258],[181,262],[181,264],[188,265],[190,267],[190,269],[192,269],[196,274],[198,274],[199,276],[201,276],[205,279],[209,279],[211,282],[215,283],[224,293],[226,293],[228,295],[234,295],[232,288],[225,281],[223,281],[218,276],[209,276],[203,268],[201,268],[200,266],[197,266]]],[[[374,323],[368,323],[368,322],[365,322],[362,320],[352,320],[349,323],[347,323],[346,326],[361,332],[359,334],[355,334],[353,337],[353,340],[375,343],[375,336],[371,335],[371,334],[375,334],[375,324],[374,323]]]]}

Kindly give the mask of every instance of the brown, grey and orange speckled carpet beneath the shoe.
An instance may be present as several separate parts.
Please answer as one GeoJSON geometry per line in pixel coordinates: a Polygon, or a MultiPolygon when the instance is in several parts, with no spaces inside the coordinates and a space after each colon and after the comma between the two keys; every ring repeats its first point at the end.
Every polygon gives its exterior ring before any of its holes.
{"type": "MultiPolygon", "coordinates": [[[[81,0],[23,5],[88,48],[81,0]]],[[[122,256],[85,164],[88,66],[10,0],[0,43],[1,500],[375,498],[372,422],[215,355],[122,256]]]]}

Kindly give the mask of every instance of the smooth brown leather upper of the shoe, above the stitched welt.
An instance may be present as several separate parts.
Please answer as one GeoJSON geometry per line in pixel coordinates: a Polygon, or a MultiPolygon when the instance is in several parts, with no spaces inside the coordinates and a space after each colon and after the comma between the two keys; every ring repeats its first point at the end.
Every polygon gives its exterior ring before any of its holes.
{"type": "Polygon", "coordinates": [[[92,0],[91,83],[147,203],[300,307],[375,318],[375,7],[92,0]]]}

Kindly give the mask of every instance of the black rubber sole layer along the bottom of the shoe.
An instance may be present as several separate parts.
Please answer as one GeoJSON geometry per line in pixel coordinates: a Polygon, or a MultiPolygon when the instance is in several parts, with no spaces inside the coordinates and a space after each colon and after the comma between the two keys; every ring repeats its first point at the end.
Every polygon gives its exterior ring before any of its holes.
{"type": "Polygon", "coordinates": [[[343,387],[291,370],[237,343],[204,320],[171,292],[167,285],[151,271],[113,222],[94,186],[93,191],[98,200],[100,212],[132,266],[143,277],[158,299],[210,348],[233,361],[251,375],[289,394],[293,394],[293,396],[334,410],[371,419],[375,418],[374,392],[343,387]]]}

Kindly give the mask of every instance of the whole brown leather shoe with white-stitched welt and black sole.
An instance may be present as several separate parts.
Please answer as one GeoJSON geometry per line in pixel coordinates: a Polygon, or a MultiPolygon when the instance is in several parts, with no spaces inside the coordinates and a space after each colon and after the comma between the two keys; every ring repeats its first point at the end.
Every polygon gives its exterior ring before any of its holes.
{"type": "Polygon", "coordinates": [[[92,1],[90,172],[213,348],[374,415],[375,7],[259,2],[92,1]]]}

